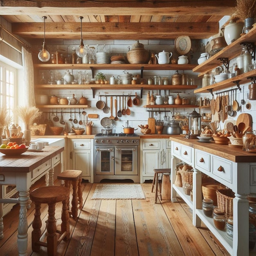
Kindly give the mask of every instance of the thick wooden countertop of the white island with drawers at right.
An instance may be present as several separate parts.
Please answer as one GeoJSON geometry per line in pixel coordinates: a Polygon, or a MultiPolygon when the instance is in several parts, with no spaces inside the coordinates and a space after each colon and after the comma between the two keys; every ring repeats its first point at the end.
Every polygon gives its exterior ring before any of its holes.
{"type": "Polygon", "coordinates": [[[186,139],[179,135],[170,136],[172,141],[178,142],[180,144],[190,146],[191,148],[196,148],[202,150],[207,153],[211,153],[213,155],[217,155],[219,157],[223,157],[232,162],[240,162],[240,163],[255,163],[256,162],[256,154],[248,153],[244,151],[242,148],[231,148],[228,145],[219,145],[214,141],[209,143],[199,142],[197,139],[186,139]]]}

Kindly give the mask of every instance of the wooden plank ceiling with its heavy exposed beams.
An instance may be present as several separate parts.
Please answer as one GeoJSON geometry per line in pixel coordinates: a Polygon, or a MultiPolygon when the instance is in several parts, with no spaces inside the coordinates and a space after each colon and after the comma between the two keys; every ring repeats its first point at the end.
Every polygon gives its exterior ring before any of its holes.
{"type": "Polygon", "coordinates": [[[0,15],[12,33],[30,43],[45,37],[80,39],[203,39],[235,12],[235,0],[1,0],[0,15]]]}

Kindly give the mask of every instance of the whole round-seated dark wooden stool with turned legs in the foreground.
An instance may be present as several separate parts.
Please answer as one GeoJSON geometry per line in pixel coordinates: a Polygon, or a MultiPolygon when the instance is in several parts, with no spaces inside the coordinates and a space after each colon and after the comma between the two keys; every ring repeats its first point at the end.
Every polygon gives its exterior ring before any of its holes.
{"type": "Polygon", "coordinates": [[[67,201],[70,197],[70,190],[60,186],[45,186],[33,190],[30,193],[30,199],[35,203],[34,221],[32,224],[32,251],[39,252],[40,246],[47,247],[47,254],[55,256],[57,254],[57,247],[63,239],[70,238],[70,223],[69,214],[67,211],[67,201]],[[61,214],[61,231],[57,230],[55,219],[55,204],[62,202],[61,214]],[[41,204],[48,204],[48,221],[47,221],[47,243],[41,242],[41,204]],[[57,239],[57,234],[61,236],[57,239]]]}

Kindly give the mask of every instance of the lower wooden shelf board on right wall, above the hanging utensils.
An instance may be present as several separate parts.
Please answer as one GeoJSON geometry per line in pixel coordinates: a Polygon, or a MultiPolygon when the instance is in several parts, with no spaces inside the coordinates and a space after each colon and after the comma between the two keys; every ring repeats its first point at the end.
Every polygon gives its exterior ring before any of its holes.
{"type": "Polygon", "coordinates": [[[256,77],[256,70],[252,70],[252,71],[249,71],[245,74],[241,74],[239,76],[229,78],[229,79],[224,80],[224,81],[219,82],[219,83],[214,83],[213,85],[208,85],[208,86],[196,89],[196,90],[194,90],[194,93],[204,93],[204,92],[209,93],[209,91],[214,92],[214,91],[230,88],[230,87],[236,85],[235,81],[238,81],[238,84],[240,86],[240,84],[249,83],[250,82],[250,79],[249,79],[250,77],[256,77]]]}

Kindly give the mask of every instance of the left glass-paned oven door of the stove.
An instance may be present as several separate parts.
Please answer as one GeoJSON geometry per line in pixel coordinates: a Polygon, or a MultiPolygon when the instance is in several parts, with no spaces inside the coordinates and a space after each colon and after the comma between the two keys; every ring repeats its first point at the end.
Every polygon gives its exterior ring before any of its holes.
{"type": "Polygon", "coordinates": [[[96,175],[114,175],[114,146],[95,146],[96,175]]]}

